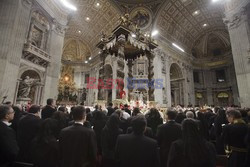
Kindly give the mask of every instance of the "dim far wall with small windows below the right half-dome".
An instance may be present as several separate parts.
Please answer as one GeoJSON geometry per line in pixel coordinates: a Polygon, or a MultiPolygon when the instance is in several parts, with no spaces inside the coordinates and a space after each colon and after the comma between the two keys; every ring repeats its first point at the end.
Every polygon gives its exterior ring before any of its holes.
{"type": "Polygon", "coordinates": [[[195,83],[195,92],[202,95],[202,97],[197,97],[196,94],[196,105],[239,105],[233,64],[204,69],[196,68],[195,72],[199,74],[199,82],[195,83]],[[217,81],[216,71],[220,70],[225,71],[223,82],[217,81]],[[229,95],[229,98],[224,100],[225,104],[219,102],[218,94],[222,92],[229,95]]]}

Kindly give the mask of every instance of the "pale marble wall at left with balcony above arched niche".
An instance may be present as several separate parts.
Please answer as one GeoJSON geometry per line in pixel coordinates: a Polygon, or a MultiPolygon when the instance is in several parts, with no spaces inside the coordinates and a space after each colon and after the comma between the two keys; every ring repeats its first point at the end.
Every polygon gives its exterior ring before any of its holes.
{"type": "Polygon", "coordinates": [[[44,104],[46,102],[44,99],[56,98],[64,41],[63,26],[67,23],[67,12],[60,14],[61,11],[56,5],[58,4],[54,0],[46,2],[3,0],[0,2],[1,99],[3,96],[8,96],[6,100],[16,102],[22,81],[19,77],[25,72],[22,69],[37,71],[43,76],[40,78],[41,82],[36,82],[35,88],[32,85],[32,89],[36,89],[33,102],[44,104]],[[39,14],[34,14],[36,11],[39,14]],[[32,14],[37,19],[41,19],[41,24],[32,17],[32,14]],[[31,43],[31,30],[34,25],[38,26],[43,33],[39,47],[34,47],[31,43]]]}

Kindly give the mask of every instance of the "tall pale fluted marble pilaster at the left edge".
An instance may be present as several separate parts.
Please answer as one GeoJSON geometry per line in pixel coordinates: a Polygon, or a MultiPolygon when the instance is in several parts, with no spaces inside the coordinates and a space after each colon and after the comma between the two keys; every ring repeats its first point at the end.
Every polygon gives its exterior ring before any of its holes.
{"type": "Polygon", "coordinates": [[[0,100],[14,102],[16,81],[29,28],[31,1],[0,1],[0,100]]]}

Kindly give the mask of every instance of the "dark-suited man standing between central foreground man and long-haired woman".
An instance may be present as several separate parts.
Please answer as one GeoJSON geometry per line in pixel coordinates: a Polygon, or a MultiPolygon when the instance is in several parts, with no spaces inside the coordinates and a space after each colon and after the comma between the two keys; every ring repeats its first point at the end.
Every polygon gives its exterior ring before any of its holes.
{"type": "Polygon", "coordinates": [[[160,146],[161,166],[166,167],[168,152],[173,141],[181,138],[181,125],[175,122],[177,112],[173,109],[167,111],[167,123],[160,125],[157,130],[157,141],[160,146]]]}

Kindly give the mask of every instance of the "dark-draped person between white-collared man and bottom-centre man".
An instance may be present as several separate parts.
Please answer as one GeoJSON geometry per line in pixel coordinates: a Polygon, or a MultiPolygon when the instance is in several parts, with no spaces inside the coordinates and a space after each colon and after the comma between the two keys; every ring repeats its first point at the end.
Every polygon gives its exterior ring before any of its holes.
{"type": "Polygon", "coordinates": [[[117,137],[122,134],[119,128],[120,119],[117,114],[112,114],[102,130],[102,164],[103,167],[116,167],[115,162],[115,144],[117,137]]]}

